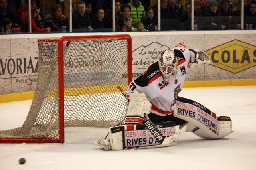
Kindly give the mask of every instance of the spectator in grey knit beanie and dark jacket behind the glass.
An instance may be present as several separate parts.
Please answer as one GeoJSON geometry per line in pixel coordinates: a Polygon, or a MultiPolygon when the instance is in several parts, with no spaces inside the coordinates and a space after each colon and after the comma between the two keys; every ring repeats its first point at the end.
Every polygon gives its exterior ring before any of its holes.
{"type": "Polygon", "coordinates": [[[209,6],[210,12],[205,19],[205,30],[224,30],[226,26],[220,21],[218,2],[216,0],[209,0],[209,6]]]}

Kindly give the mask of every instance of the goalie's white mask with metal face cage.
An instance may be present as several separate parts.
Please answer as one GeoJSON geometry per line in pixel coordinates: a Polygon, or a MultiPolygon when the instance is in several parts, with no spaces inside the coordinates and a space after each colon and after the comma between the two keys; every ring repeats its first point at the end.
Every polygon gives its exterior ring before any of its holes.
{"type": "Polygon", "coordinates": [[[167,49],[159,56],[159,69],[162,72],[164,81],[168,81],[171,75],[176,73],[178,64],[178,57],[175,56],[174,51],[167,49]]]}

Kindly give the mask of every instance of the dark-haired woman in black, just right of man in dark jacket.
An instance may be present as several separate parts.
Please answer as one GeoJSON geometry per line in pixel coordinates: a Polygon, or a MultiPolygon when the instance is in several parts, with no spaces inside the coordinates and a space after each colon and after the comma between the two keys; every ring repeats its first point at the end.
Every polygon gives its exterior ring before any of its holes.
{"type": "Polygon", "coordinates": [[[102,22],[102,19],[104,18],[104,9],[98,8],[96,10],[96,18],[92,21],[92,27],[95,32],[102,32],[106,28],[106,24],[102,22]]]}

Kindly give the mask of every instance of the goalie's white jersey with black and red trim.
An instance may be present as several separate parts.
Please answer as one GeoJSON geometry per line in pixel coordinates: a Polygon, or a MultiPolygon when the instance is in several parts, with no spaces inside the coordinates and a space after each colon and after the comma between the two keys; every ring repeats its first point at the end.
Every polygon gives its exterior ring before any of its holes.
{"type": "Polygon", "coordinates": [[[143,75],[132,81],[127,89],[127,93],[144,93],[152,104],[151,113],[160,116],[173,113],[190,62],[190,51],[184,44],[176,45],[172,50],[178,56],[178,65],[168,82],[164,81],[156,61],[147,67],[143,75]]]}

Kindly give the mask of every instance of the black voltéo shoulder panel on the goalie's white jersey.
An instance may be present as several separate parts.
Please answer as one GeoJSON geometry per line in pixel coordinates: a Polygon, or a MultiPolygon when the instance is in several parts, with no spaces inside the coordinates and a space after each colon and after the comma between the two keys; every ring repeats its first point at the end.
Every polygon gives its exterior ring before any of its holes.
{"type": "Polygon", "coordinates": [[[145,87],[148,86],[150,80],[156,77],[156,75],[158,74],[161,74],[161,72],[157,61],[153,63],[143,75],[134,80],[134,82],[136,83],[136,85],[145,87]]]}

